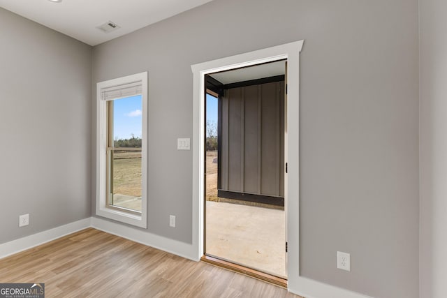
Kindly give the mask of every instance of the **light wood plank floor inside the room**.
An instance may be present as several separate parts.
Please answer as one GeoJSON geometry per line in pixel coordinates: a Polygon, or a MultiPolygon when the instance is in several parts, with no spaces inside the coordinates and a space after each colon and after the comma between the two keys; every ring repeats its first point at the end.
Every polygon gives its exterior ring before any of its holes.
{"type": "Polygon", "coordinates": [[[45,297],[299,297],[92,228],[0,260],[0,283],[45,283],[45,297]]]}

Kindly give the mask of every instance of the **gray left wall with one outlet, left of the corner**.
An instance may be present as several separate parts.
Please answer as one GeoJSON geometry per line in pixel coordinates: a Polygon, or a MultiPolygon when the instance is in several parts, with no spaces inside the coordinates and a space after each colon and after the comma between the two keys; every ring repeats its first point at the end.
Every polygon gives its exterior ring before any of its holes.
{"type": "Polygon", "coordinates": [[[91,215],[91,47],[3,8],[0,28],[1,244],[91,215]]]}

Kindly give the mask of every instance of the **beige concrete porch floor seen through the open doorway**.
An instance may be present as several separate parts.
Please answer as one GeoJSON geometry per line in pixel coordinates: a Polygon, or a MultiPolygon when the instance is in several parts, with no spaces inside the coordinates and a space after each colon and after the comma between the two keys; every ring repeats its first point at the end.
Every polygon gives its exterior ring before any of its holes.
{"type": "Polygon", "coordinates": [[[207,201],[206,253],[286,277],[284,210],[207,201]]]}

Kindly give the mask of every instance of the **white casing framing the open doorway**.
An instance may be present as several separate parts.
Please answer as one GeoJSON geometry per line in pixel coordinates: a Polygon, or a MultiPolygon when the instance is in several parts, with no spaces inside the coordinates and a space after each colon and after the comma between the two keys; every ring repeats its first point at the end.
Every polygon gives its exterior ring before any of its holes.
{"type": "Polygon", "coordinates": [[[234,68],[254,66],[281,59],[287,60],[288,107],[286,127],[288,140],[288,173],[284,177],[284,204],[286,206],[286,239],[288,241],[288,288],[299,283],[299,55],[304,40],[269,47],[232,57],[207,61],[191,66],[193,71],[193,249],[196,260],[203,256],[204,240],[204,140],[205,140],[205,75],[234,68]],[[291,181],[291,183],[288,183],[291,181]]]}

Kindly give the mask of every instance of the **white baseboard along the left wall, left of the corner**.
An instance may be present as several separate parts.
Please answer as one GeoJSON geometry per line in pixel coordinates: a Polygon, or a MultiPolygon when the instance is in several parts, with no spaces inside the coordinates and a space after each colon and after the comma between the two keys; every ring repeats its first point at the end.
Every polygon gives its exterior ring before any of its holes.
{"type": "Polygon", "coordinates": [[[75,221],[73,223],[68,223],[66,225],[61,225],[57,228],[52,228],[43,232],[38,232],[37,234],[32,234],[27,237],[9,241],[0,244],[0,259],[6,258],[8,255],[13,255],[15,253],[20,253],[20,251],[26,251],[29,248],[45,244],[54,239],[64,237],[68,234],[78,232],[80,230],[89,228],[91,226],[91,218],[84,218],[80,221],[75,221]]]}

